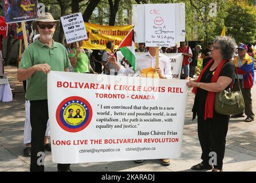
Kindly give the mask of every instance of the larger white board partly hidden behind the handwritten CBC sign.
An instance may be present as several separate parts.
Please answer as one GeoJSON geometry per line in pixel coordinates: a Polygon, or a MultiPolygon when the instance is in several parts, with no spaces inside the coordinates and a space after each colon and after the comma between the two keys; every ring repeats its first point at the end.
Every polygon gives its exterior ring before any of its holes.
{"type": "MultiPolygon", "coordinates": [[[[156,9],[157,4],[153,7],[156,9]]],[[[175,6],[175,23],[172,25],[175,28],[175,42],[185,41],[185,4],[184,3],[174,3],[174,4],[164,4],[164,6],[173,5],[175,6]]],[[[148,5],[133,5],[132,9],[132,23],[135,26],[135,42],[146,42],[145,40],[145,7],[148,5]]],[[[156,11],[156,10],[155,10],[156,11]]],[[[150,12],[149,12],[150,13],[150,12]]],[[[167,22],[169,21],[167,17],[167,22]]]]}

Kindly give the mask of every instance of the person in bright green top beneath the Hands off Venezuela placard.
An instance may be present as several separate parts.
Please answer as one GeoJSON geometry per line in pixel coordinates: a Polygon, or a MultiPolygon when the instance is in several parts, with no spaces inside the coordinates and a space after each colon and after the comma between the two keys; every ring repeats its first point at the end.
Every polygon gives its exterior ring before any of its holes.
{"type": "Polygon", "coordinates": [[[75,73],[90,73],[92,71],[93,74],[97,74],[92,67],[90,66],[90,61],[88,56],[85,54],[84,49],[81,48],[82,41],[78,42],[79,47],[77,47],[77,43],[73,43],[73,49],[70,50],[69,59],[70,63],[73,66],[75,73]]]}

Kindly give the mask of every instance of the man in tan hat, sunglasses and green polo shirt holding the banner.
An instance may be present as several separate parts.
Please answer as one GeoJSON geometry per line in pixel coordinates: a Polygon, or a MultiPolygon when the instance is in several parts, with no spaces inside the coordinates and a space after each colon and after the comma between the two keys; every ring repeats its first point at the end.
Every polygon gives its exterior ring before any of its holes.
{"type": "MultiPolygon", "coordinates": [[[[53,41],[60,21],[45,13],[33,22],[40,38],[24,51],[17,77],[27,80],[26,100],[30,101],[31,156],[30,171],[44,171],[44,136],[49,118],[47,101],[47,73],[50,70],[69,71],[69,58],[61,43],[53,41]]],[[[59,171],[69,171],[70,164],[58,164],[59,171]]]]}

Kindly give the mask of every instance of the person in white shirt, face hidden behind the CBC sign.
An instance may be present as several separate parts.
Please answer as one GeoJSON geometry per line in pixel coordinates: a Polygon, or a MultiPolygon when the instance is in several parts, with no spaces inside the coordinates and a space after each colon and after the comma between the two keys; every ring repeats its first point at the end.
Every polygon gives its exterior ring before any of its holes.
{"type": "MultiPolygon", "coordinates": [[[[113,55],[109,55],[108,61],[112,63],[113,66],[116,67],[118,74],[130,75],[139,74],[141,77],[145,74],[146,77],[153,77],[153,78],[161,78],[161,79],[171,79],[171,66],[169,58],[163,54],[159,54],[159,67],[153,69],[156,66],[156,47],[149,47],[148,53],[144,55],[140,55],[136,57],[135,60],[135,67],[136,70],[134,71],[132,67],[125,68],[124,66],[117,63],[116,58],[113,55]],[[148,73],[150,74],[147,74],[148,73]],[[157,73],[157,74],[155,74],[157,73]]],[[[136,160],[136,164],[141,164],[144,160],[136,160]]],[[[170,160],[168,158],[164,158],[161,160],[161,163],[164,166],[170,165],[170,160]]]]}

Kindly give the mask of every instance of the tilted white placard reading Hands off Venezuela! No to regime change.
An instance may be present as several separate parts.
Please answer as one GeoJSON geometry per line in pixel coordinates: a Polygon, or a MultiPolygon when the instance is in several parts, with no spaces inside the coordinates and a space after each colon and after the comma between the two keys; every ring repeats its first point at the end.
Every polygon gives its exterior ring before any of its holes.
{"type": "Polygon", "coordinates": [[[88,39],[82,13],[74,13],[61,17],[67,43],[88,39]]]}

